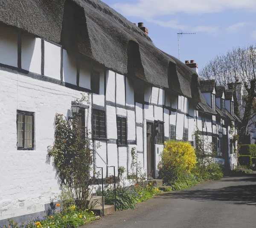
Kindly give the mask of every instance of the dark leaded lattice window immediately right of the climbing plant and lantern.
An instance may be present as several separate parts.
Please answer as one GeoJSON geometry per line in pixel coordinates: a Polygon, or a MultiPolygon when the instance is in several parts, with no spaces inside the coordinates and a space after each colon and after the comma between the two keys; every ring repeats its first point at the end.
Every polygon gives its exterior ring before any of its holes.
{"type": "Polygon", "coordinates": [[[93,137],[106,138],[105,111],[93,109],[93,137]]]}

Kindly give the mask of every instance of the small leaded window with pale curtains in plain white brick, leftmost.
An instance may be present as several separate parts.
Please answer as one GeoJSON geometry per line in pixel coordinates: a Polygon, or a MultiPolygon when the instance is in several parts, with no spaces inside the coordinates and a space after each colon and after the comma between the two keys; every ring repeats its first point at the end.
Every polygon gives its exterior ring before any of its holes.
{"type": "Polygon", "coordinates": [[[17,148],[34,149],[34,113],[17,111],[17,148]]]}

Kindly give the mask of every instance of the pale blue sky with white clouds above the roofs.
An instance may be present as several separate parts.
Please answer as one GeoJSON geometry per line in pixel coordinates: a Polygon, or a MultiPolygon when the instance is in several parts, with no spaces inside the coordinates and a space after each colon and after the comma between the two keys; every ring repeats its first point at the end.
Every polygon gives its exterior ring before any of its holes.
{"type": "Polygon", "coordinates": [[[233,47],[256,44],[256,0],[103,0],[132,23],[144,22],[157,48],[198,69],[233,47]]]}

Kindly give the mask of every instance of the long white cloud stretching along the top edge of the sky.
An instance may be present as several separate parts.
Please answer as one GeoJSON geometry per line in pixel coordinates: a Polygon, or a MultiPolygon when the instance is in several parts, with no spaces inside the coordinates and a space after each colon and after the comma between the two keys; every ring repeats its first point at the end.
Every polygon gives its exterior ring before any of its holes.
{"type": "Polygon", "coordinates": [[[125,16],[155,17],[175,13],[207,14],[226,9],[255,9],[255,0],[137,0],[137,3],[113,5],[125,16]]]}

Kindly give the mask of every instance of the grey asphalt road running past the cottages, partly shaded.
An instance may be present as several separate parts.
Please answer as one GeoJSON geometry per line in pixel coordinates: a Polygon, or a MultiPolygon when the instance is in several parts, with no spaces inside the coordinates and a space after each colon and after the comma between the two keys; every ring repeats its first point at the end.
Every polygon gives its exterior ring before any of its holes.
{"type": "Polygon", "coordinates": [[[85,227],[256,228],[256,173],[169,192],[85,227]]]}

